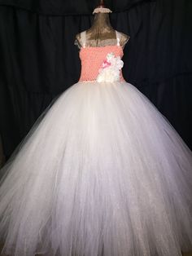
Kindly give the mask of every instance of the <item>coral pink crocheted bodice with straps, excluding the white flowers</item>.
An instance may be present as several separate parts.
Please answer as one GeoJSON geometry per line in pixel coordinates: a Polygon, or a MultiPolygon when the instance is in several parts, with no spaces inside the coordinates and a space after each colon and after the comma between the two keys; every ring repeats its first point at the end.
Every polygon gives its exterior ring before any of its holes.
{"type": "MultiPolygon", "coordinates": [[[[80,50],[81,59],[81,77],[80,82],[95,81],[98,76],[98,69],[101,68],[103,60],[106,59],[108,53],[113,52],[116,57],[123,57],[124,52],[120,46],[119,33],[116,31],[117,44],[113,46],[85,46],[85,31],[81,32],[81,41],[83,46],[80,50]]],[[[124,81],[122,71],[120,70],[120,81],[124,81]]]]}

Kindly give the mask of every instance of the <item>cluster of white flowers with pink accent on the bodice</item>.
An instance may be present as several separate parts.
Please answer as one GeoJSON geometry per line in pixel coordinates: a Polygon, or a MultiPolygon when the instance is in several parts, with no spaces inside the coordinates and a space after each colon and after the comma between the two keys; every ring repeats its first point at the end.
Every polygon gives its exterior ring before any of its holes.
{"type": "Polygon", "coordinates": [[[110,52],[107,54],[106,60],[103,60],[101,68],[98,69],[97,82],[115,82],[120,81],[120,69],[123,68],[124,62],[110,52]]]}

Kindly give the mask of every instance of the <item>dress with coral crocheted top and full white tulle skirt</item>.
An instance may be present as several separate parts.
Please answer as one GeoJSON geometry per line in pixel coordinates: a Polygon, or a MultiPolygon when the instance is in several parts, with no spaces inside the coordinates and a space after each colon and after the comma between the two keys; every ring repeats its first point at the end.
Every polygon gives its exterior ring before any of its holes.
{"type": "Polygon", "coordinates": [[[192,249],[192,152],[121,73],[84,46],[81,77],[1,170],[2,255],[181,256],[192,249]]]}

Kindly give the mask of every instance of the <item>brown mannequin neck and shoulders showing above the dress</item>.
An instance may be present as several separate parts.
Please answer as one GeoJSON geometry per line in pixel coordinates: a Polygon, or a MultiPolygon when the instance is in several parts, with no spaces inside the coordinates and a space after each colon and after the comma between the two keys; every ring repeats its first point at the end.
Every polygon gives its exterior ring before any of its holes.
{"type": "MultiPolygon", "coordinates": [[[[103,1],[94,9],[94,23],[90,29],[86,30],[87,46],[95,47],[116,44],[116,30],[111,27],[109,12],[111,12],[111,10],[104,6],[103,1]]],[[[120,46],[122,48],[124,48],[126,42],[129,41],[129,38],[128,35],[120,33],[120,46]]],[[[81,33],[76,34],[75,44],[81,48],[81,33]]]]}

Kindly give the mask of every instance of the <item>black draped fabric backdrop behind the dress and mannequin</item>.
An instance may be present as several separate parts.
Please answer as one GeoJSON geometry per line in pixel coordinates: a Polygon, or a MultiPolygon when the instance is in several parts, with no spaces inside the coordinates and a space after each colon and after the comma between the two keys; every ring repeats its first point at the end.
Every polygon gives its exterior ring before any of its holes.
{"type": "MultiPolygon", "coordinates": [[[[96,1],[0,0],[0,134],[15,146],[52,99],[78,81],[76,33],[96,1]]],[[[192,1],[106,1],[112,26],[130,36],[124,78],[145,94],[192,148],[192,1]]]]}

